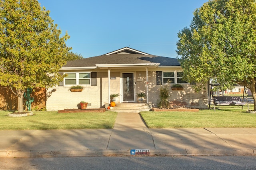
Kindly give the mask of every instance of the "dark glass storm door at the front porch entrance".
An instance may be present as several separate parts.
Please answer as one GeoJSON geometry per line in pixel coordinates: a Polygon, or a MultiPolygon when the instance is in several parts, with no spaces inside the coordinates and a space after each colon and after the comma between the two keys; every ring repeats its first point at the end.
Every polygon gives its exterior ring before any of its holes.
{"type": "Polygon", "coordinates": [[[123,102],[134,102],[133,73],[123,73],[123,102]]]}

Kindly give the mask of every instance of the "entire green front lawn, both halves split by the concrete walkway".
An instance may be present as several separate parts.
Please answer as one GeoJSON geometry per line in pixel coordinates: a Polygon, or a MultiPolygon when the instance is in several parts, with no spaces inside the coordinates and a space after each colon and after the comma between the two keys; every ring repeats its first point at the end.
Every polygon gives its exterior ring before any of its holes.
{"type": "MultiPolygon", "coordinates": [[[[250,105],[249,109],[252,109],[250,105]]],[[[246,113],[247,106],[219,107],[199,112],[143,111],[141,115],[149,128],[204,128],[204,127],[256,127],[256,114],[246,113]]],[[[26,117],[9,117],[8,111],[0,111],[0,130],[46,129],[111,129],[117,113],[57,113],[57,111],[33,111],[26,117]]]]}

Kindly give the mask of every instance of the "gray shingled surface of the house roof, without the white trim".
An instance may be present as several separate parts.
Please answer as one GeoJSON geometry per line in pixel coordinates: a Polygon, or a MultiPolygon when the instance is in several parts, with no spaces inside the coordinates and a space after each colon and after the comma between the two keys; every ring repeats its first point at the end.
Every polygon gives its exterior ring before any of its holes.
{"type": "Polygon", "coordinates": [[[177,59],[155,55],[134,54],[127,50],[118,54],[100,55],[80,60],[68,61],[63,67],[89,67],[96,64],[147,64],[160,63],[160,66],[180,66],[177,59]]]}

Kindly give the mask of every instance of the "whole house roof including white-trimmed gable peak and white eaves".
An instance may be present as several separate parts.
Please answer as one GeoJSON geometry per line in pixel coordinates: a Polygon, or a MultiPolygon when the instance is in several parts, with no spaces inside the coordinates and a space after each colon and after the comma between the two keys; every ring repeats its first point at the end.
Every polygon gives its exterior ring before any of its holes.
{"type": "Polygon", "coordinates": [[[121,67],[180,67],[177,59],[150,55],[129,47],[105,55],[68,61],[62,69],[98,69],[121,67]]]}

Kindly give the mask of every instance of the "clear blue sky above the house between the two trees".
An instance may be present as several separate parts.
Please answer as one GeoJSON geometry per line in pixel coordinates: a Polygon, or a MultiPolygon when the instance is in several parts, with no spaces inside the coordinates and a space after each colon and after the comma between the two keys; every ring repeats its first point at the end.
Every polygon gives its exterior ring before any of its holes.
{"type": "Polygon", "coordinates": [[[176,58],[177,33],[208,0],[38,0],[83,57],[130,47],[176,58]]]}

